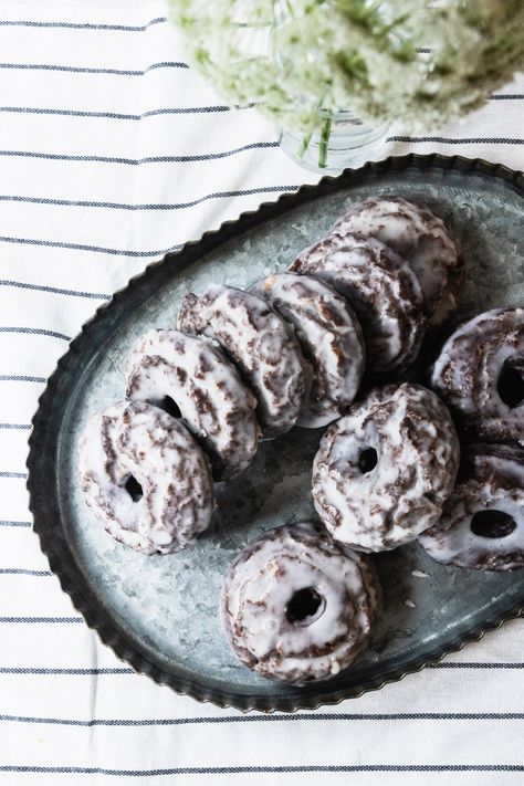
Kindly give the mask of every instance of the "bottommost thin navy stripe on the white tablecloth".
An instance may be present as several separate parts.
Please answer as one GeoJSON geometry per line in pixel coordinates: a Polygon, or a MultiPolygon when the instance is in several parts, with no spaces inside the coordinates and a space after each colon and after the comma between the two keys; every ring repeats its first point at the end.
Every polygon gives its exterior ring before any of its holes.
{"type": "Polygon", "coordinates": [[[523,773],[524,764],[298,764],[282,766],[167,767],[161,769],[108,769],[106,767],[42,766],[2,764],[2,773],[56,775],[247,775],[255,773],[523,773]]]}

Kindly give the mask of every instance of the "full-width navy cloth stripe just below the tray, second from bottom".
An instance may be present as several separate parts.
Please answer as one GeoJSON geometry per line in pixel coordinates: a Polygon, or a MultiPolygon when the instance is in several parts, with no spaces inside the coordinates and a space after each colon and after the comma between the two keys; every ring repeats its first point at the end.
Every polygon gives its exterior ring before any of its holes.
{"type": "MultiPolygon", "coordinates": [[[[1,670],[0,670],[1,673],[1,670]]],[[[11,673],[11,672],[10,672],[11,673]]],[[[523,712],[400,712],[400,713],[348,713],[348,712],[312,712],[286,715],[207,715],[197,717],[161,717],[161,719],[93,719],[81,721],[67,717],[36,717],[33,715],[0,715],[0,722],[6,723],[42,723],[59,726],[187,726],[229,723],[286,723],[301,721],[520,721],[523,712]]]]}

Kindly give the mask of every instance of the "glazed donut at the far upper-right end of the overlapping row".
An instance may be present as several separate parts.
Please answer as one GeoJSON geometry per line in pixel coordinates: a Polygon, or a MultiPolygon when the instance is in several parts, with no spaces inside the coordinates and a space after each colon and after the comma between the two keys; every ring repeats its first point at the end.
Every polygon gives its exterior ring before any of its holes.
{"type": "Polygon", "coordinates": [[[448,313],[457,307],[459,251],[444,222],[429,208],[400,197],[368,199],[353,206],[331,232],[371,235],[404,256],[419,281],[428,317],[447,296],[448,313]]]}

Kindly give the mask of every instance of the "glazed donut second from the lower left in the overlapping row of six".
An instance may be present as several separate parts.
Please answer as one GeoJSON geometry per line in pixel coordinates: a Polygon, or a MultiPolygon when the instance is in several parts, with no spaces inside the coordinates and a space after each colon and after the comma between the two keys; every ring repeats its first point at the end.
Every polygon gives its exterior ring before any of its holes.
{"type": "Polygon", "coordinates": [[[127,398],[179,417],[211,460],[214,480],[231,480],[253,459],[256,400],[210,342],[179,331],[149,331],[132,349],[127,398]]]}

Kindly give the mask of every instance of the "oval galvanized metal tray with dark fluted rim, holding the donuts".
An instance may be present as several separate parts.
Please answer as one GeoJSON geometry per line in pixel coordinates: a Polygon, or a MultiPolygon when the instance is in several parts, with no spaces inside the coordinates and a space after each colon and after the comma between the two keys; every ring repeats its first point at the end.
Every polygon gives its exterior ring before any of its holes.
{"type": "Polygon", "coordinates": [[[51,569],[101,639],[155,681],[199,701],[293,711],[380,688],[479,639],[524,607],[524,570],[443,567],[417,545],[377,557],[385,610],[368,652],[333,680],[297,689],[252,674],[221,630],[218,597],[235,554],[269,527],[313,515],[311,467],[321,431],[293,429],[261,446],[239,479],[216,486],[218,513],[198,543],[145,557],[116,544],[84,504],[78,436],[96,410],[124,397],[129,346],[174,324],[188,290],[243,287],[284,269],[346,206],[395,193],[432,207],[462,242],[461,313],[524,303],[524,177],[460,157],[407,156],[346,170],[263,205],[168,254],[98,310],[49,380],[33,420],[29,491],[51,569]]]}

